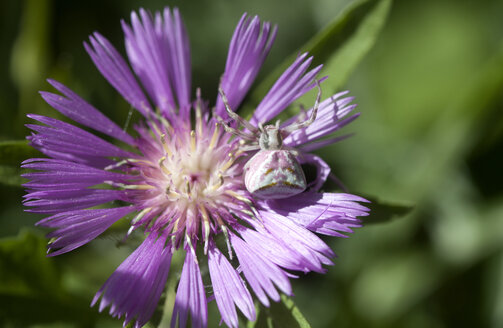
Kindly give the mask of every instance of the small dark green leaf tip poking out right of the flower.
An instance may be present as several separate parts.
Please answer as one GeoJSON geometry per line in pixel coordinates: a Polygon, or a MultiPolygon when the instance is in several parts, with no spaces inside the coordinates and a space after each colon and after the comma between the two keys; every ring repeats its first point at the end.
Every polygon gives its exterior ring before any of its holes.
{"type": "Polygon", "coordinates": [[[411,204],[384,202],[377,198],[364,197],[370,201],[369,204],[365,204],[370,209],[370,214],[363,217],[364,224],[388,222],[403,217],[414,209],[411,204]]]}

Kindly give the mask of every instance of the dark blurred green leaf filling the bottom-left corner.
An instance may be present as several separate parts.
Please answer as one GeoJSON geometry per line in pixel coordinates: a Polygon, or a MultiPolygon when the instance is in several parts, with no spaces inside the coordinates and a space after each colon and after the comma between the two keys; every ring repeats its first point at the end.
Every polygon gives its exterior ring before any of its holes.
{"type": "Polygon", "coordinates": [[[67,321],[89,326],[96,319],[89,300],[63,290],[54,262],[46,257],[45,238],[33,232],[0,239],[0,325],[67,321]]]}

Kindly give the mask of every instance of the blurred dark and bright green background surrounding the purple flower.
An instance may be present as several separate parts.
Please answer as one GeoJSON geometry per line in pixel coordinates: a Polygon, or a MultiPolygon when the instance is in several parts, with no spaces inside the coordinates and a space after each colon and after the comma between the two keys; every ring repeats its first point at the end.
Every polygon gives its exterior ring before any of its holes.
{"type": "MultiPolygon", "coordinates": [[[[124,53],[120,19],[166,5],[180,8],[188,29],[193,86],[215,99],[244,11],[279,25],[260,80],[352,2],[3,0],[0,141],[24,139],[27,113],[59,117],[37,94],[51,90],[48,77],[123,125],[129,107],[82,42],[97,30],[124,53]]],[[[345,128],[354,137],[322,155],[351,192],[387,206],[375,208],[386,222],[371,216],[350,238],[326,239],[339,256],[328,274],[293,281],[312,327],[503,327],[502,14],[501,0],[395,1],[377,38],[356,38],[327,63],[325,95],[351,90],[362,116],[345,128]]],[[[21,207],[19,160],[0,155],[0,326],[120,327],[89,303],[136,245],[118,247],[123,235],[108,233],[46,258],[46,231],[33,226],[40,217],[21,207]]],[[[216,327],[214,302],[210,310],[216,327]]]]}

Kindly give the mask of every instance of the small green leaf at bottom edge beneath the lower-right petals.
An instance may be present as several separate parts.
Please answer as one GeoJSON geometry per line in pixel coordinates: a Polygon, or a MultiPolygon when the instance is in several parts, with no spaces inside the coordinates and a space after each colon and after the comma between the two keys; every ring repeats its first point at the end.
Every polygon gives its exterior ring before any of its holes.
{"type": "Polygon", "coordinates": [[[257,321],[248,328],[311,328],[291,298],[281,295],[281,302],[272,302],[269,308],[261,307],[257,321]]]}

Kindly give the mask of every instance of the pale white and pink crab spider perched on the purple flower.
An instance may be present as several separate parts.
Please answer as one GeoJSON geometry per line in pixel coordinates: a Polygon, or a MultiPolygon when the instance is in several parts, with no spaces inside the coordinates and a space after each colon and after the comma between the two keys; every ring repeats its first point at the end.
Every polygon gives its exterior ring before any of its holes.
{"type": "Polygon", "coordinates": [[[288,198],[306,189],[306,177],[297,160],[298,151],[283,146],[283,139],[296,130],[304,129],[314,122],[321,99],[321,87],[318,81],[318,95],[311,112],[311,116],[303,122],[294,122],[284,128],[280,121],[274,125],[259,123],[255,127],[250,122],[236,114],[229,106],[227,97],[222,88],[218,92],[222,97],[227,114],[246,130],[233,128],[222,119],[220,122],[225,130],[244,140],[244,151],[258,152],[248,160],[244,166],[244,182],[246,189],[254,196],[261,199],[288,198]]]}

